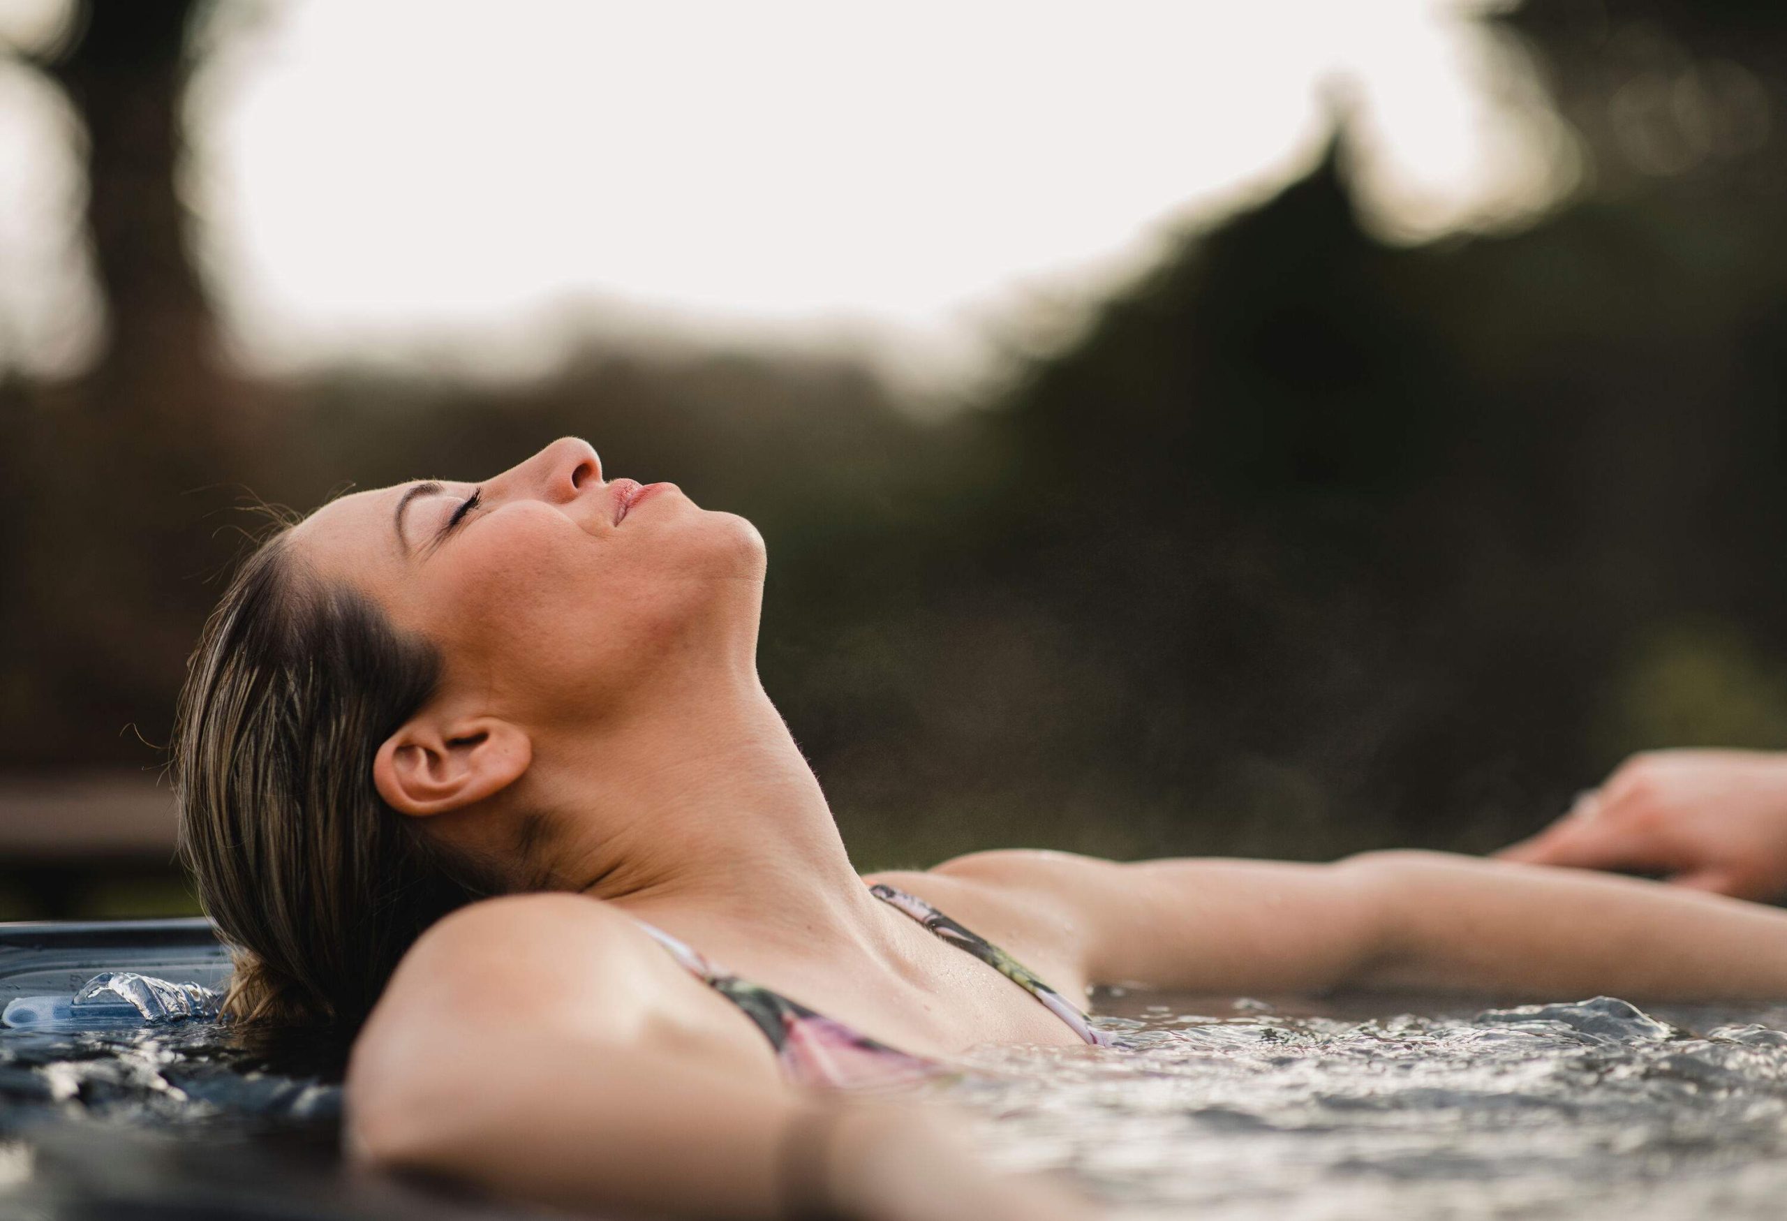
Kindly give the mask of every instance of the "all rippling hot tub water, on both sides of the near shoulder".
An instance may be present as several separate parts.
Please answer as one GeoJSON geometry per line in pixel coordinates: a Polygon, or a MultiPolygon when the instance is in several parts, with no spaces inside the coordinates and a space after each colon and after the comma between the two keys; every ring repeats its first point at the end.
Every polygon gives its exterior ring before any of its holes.
{"type": "MultiPolygon", "coordinates": [[[[997,1164],[1070,1173],[1120,1217],[1742,1221],[1787,1200],[1787,1008],[1097,1008],[1124,1048],[981,1049],[924,1092],[997,1164]]],[[[0,1214],[522,1216],[343,1173],[340,1057],[209,1023],[0,1032],[0,1214]]]]}

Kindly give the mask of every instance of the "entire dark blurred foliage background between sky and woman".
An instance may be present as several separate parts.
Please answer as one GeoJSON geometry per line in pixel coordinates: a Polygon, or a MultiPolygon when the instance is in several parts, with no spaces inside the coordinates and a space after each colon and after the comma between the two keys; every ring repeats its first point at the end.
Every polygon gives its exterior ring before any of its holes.
{"type": "MultiPolygon", "coordinates": [[[[1632,749],[1787,745],[1787,11],[1498,21],[1580,141],[1551,216],[1387,245],[1340,132],[944,422],[842,359],[599,336],[522,386],[241,383],[202,300],[107,281],[116,334],[186,338],[0,386],[0,767],[154,758],[120,729],[166,733],[239,488],[479,477],[561,433],[763,529],[765,681],[865,867],[1487,849],[1632,749]]],[[[84,113],[179,89],[80,79],[84,113]]]]}

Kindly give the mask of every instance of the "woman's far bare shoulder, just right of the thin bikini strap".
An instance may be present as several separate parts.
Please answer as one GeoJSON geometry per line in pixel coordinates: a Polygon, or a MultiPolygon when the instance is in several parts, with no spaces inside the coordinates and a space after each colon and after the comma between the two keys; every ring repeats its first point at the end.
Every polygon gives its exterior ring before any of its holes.
{"type": "Polygon", "coordinates": [[[886,871],[865,881],[908,890],[1006,949],[1063,994],[1090,980],[1092,930],[1085,890],[1117,869],[1112,862],[1047,849],[999,849],[945,860],[926,871],[886,871]]]}

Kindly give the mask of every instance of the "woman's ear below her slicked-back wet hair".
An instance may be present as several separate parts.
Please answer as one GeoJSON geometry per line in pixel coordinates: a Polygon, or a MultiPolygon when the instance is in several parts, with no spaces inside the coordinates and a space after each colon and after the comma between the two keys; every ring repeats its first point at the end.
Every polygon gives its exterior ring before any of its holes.
{"type": "Polygon", "coordinates": [[[533,762],[520,726],[424,712],[379,745],[372,783],[399,813],[447,813],[513,785],[533,762]]]}

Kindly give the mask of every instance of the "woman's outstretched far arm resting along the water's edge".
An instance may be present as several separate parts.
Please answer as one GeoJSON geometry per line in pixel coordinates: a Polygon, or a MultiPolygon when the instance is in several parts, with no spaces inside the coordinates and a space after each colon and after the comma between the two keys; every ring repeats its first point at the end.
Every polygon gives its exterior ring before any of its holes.
{"type": "Polygon", "coordinates": [[[1787,998],[1787,912],[1574,869],[1442,853],[1331,865],[979,853],[938,872],[1065,915],[1058,933],[1092,983],[1787,998]]]}

